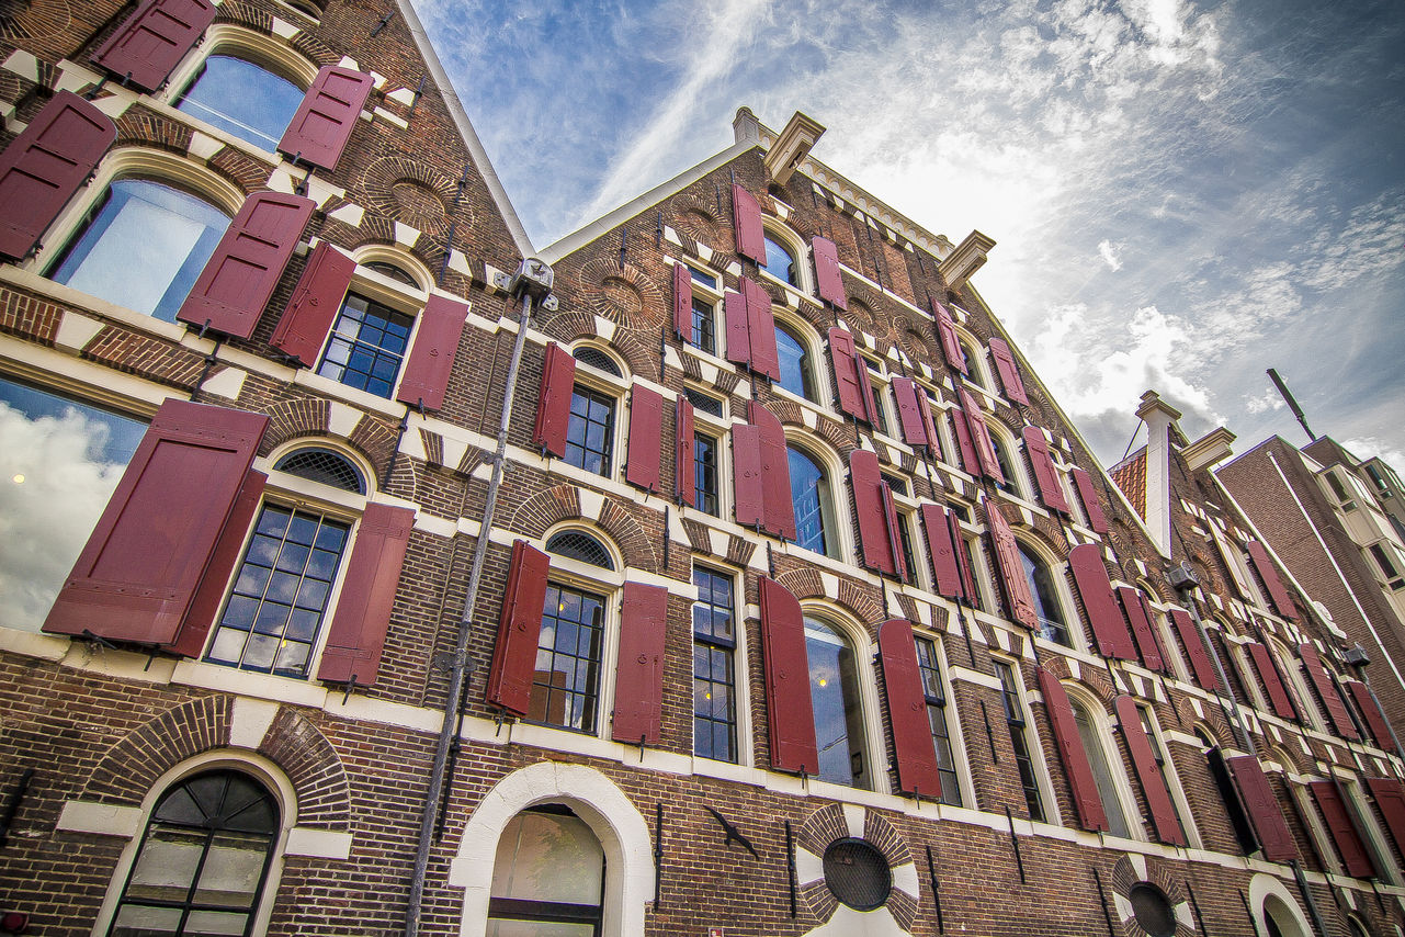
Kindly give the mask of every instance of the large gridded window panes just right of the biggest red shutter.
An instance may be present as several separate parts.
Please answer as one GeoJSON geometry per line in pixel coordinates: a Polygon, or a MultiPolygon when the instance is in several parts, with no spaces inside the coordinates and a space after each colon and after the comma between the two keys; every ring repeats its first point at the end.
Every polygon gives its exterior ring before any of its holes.
{"type": "Polygon", "coordinates": [[[306,676],[347,530],[323,514],[266,504],[208,660],[240,670],[306,676]]]}

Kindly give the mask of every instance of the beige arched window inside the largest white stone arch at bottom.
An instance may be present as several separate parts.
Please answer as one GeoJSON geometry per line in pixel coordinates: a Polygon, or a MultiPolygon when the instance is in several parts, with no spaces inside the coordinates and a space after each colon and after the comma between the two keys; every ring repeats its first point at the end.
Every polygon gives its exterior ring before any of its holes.
{"type": "Polygon", "coordinates": [[[604,882],[604,850],[579,816],[555,804],[523,811],[497,840],[488,937],[596,937],[604,882]]]}

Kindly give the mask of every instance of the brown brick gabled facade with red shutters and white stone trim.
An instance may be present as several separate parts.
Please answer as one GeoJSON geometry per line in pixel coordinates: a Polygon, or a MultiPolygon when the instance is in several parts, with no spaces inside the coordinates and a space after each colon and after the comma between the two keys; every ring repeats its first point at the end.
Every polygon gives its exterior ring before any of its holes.
{"type": "Polygon", "coordinates": [[[1218,437],[1113,486],[813,121],[534,251],[406,3],[0,27],[30,933],[1401,933],[1218,437]]]}

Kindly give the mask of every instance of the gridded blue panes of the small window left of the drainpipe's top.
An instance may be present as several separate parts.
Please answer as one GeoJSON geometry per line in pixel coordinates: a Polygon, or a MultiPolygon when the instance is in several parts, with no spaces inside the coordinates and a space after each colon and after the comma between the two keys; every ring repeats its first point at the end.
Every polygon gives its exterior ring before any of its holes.
{"type": "Polygon", "coordinates": [[[414,316],[350,294],[341,303],[318,374],[389,398],[410,344],[414,316]]]}

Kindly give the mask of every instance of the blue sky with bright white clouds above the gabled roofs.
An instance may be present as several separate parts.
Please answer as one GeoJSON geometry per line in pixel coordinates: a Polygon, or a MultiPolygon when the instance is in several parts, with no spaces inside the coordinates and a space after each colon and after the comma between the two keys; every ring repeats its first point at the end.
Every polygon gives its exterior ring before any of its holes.
{"type": "MultiPolygon", "coordinates": [[[[540,249],[750,107],[975,275],[1104,465],[1141,393],[1405,472],[1398,0],[414,0],[540,249]]],[[[1145,431],[1135,437],[1137,445],[1145,431]]]]}

